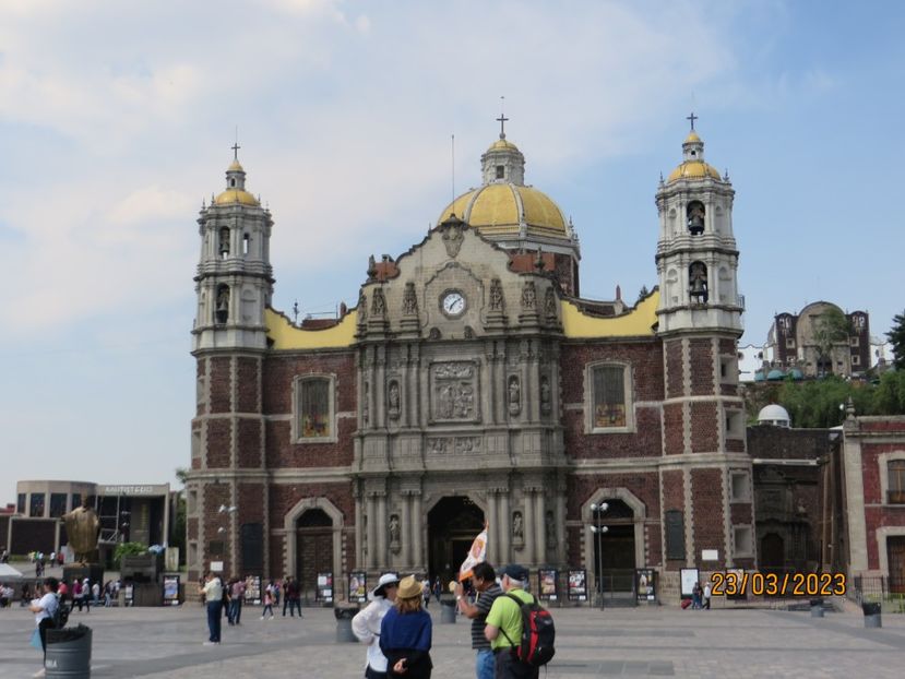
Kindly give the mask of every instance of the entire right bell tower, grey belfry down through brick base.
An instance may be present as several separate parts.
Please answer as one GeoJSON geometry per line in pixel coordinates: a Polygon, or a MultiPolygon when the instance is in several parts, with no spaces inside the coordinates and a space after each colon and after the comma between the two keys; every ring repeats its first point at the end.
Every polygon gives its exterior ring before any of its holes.
{"type": "Polygon", "coordinates": [[[682,162],[656,192],[664,553],[667,571],[754,568],[751,460],[738,388],[743,301],[735,191],[728,175],[704,160],[696,116],[688,119],[682,162]]]}

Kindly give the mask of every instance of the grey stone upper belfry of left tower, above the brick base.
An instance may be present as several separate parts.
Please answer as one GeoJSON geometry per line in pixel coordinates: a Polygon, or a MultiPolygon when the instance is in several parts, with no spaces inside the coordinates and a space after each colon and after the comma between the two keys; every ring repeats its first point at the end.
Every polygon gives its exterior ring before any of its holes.
{"type": "Polygon", "coordinates": [[[198,312],[193,350],[266,348],[264,310],[273,295],[269,210],[246,190],[239,145],[226,169],[226,187],[198,219],[201,259],[195,275],[198,312]]]}

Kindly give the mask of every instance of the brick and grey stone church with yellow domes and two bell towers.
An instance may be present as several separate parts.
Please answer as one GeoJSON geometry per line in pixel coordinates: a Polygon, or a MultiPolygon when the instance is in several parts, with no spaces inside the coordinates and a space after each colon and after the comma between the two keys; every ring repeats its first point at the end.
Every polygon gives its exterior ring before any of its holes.
{"type": "Polygon", "coordinates": [[[190,580],[449,579],[485,523],[491,563],[557,569],[561,592],[569,569],[627,592],[653,569],[665,595],[682,568],[754,568],[735,191],[691,120],[634,307],[581,297],[573,225],[501,120],[478,188],[372,260],[355,308],[295,324],[236,157],[198,219],[190,580]]]}

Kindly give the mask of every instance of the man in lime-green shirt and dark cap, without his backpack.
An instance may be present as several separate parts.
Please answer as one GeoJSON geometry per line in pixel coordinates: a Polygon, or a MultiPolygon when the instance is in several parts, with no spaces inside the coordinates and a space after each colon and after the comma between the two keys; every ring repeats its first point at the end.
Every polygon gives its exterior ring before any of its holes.
{"type": "MultiPolygon", "coordinates": [[[[528,571],[511,563],[500,572],[502,589],[516,599],[531,604],[534,597],[525,592],[528,571]]],[[[484,635],[493,650],[496,679],[537,679],[538,669],[515,657],[514,648],[522,641],[522,611],[509,596],[498,596],[487,614],[484,635]]]]}

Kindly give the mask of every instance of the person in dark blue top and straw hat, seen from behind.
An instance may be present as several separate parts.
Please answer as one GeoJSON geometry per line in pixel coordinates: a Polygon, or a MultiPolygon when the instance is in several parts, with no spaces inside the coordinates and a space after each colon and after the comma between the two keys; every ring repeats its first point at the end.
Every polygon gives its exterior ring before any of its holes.
{"type": "Polygon", "coordinates": [[[414,575],[400,581],[396,601],[380,622],[380,650],[386,656],[386,676],[430,679],[433,627],[421,608],[421,583],[414,575]]]}

